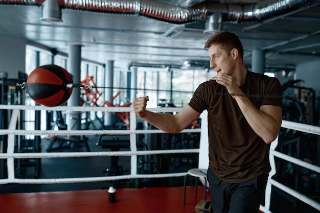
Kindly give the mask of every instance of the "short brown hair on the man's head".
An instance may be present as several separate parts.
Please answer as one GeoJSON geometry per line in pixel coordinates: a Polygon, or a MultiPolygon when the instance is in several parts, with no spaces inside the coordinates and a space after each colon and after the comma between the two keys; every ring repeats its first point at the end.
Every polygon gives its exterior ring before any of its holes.
{"type": "Polygon", "coordinates": [[[243,60],[243,46],[239,37],[231,32],[222,31],[211,36],[204,44],[204,49],[210,48],[213,44],[219,44],[227,55],[230,55],[232,49],[236,48],[243,60]]]}

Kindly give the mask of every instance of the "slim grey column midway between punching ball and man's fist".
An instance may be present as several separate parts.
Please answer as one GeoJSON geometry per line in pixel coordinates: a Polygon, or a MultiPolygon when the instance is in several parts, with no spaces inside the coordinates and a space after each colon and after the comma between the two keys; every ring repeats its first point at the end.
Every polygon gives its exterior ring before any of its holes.
{"type": "MultiPolygon", "coordinates": [[[[105,68],[105,100],[113,104],[113,64],[114,61],[107,61],[105,68]]],[[[113,113],[105,113],[104,115],[104,125],[112,126],[113,123],[113,113]]]]}

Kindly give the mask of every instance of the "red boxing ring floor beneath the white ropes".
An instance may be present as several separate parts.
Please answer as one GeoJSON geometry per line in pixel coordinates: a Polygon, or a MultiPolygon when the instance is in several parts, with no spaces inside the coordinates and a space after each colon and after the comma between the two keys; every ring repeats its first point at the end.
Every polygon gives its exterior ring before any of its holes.
{"type": "MultiPolygon", "coordinates": [[[[119,188],[116,203],[108,202],[107,190],[0,194],[1,213],[194,213],[204,198],[203,186],[187,186],[186,205],[183,187],[119,188]]],[[[209,193],[207,200],[210,200],[209,193]]]]}

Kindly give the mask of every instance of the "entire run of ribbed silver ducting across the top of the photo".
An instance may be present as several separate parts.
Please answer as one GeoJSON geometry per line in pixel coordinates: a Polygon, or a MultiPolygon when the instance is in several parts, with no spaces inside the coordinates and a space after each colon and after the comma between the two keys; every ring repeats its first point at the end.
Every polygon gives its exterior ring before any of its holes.
{"type": "MultiPolygon", "coordinates": [[[[192,0],[191,0],[192,1],[192,0]]],[[[197,3],[200,0],[195,0],[197,3]]],[[[0,0],[0,4],[41,6],[44,0],[0,0]]],[[[172,6],[154,0],[58,0],[60,8],[124,15],[139,15],[170,23],[190,23],[205,20],[220,12],[223,21],[234,23],[262,21],[284,15],[320,0],[265,0],[255,5],[219,5],[199,3],[189,8],[172,6]]],[[[192,2],[191,2],[192,3],[192,2]]]]}

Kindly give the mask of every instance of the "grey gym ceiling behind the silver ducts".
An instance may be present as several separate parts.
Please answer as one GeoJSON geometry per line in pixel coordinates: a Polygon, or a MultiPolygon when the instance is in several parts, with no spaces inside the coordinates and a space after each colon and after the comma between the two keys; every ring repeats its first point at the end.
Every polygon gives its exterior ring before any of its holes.
{"type": "MultiPolygon", "coordinates": [[[[264,2],[208,3],[247,6],[264,2]]],[[[151,3],[179,8],[175,1],[151,3]]],[[[319,5],[320,1],[313,1],[261,21],[223,21],[222,29],[240,37],[246,65],[251,64],[252,50],[262,49],[268,69],[294,69],[296,64],[320,59],[319,5]]],[[[203,50],[204,42],[210,37],[203,33],[205,20],[172,23],[125,12],[62,8],[62,22],[46,22],[40,20],[41,5],[7,4],[3,0],[0,0],[0,11],[0,36],[26,39],[30,44],[64,54],[70,45],[81,44],[82,58],[102,64],[108,60],[115,61],[116,67],[131,63],[182,65],[186,60],[209,62],[207,51],[203,50]],[[178,32],[176,36],[168,36],[173,31],[178,32]]]]}

